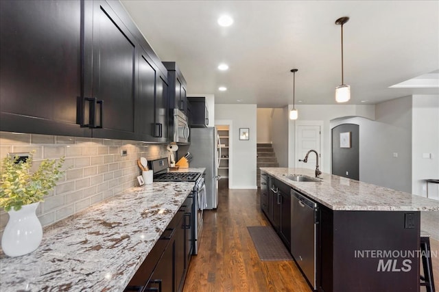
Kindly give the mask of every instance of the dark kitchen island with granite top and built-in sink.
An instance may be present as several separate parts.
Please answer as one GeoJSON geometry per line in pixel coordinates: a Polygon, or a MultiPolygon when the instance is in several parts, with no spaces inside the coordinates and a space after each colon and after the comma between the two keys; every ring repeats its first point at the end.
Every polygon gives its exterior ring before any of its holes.
{"type": "MultiPolygon", "coordinates": [[[[314,176],[307,169],[261,168],[264,174],[270,178],[268,191],[285,185],[293,190],[291,197],[298,193],[316,202],[315,282],[307,280],[317,291],[420,290],[420,211],[439,211],[438,201],[331,174],[322,174],[317,182],[287,177],[314,176]]],[[[276,208],[276,202],[272,205],[276,208]]],[[[289,210],[291,222],[284,221],[297,226],[297,209],[289,210]]],[[[285,217],[278,216],[281,221],[285,217]]],[[[292,228],[292,248],[304,234],[292,228]]],[[[295,260],[300,267],[302,258],[295,260]]]]}

